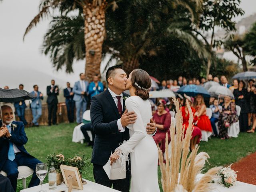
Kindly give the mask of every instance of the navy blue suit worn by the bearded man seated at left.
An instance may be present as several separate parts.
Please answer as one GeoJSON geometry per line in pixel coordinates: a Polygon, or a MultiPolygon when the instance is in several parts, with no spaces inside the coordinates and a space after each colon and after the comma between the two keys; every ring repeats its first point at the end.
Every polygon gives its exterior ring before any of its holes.
{"type": "MultiPolygon", "coordinates": [[[[16,127],[12,126],[12,137],[0,138],[0,170],[6,172],[7,177],[10,179],[12,187],[14,191],[16,191],[17,187],[17,178],[18,178],[18,166],[28,166],[34,170],[31,181],[28,187],[36,186],[40,183],[40,180],[36,176],[36,164],[40,163],[39,160],[30,155],[26,149],[24,148],[24,144],[28,141],[24,130],[23,122],[13,121],[12,124],[15,124],[16,127]],[[13,161],[8,159],[8,150],[9,150],[9,142],[15,144],[15,146],[20,150],[20,152],[15,154],[15,159],[13,161]]],[[[2,121],[0,121],[0,127],[2,126],[2,121]]]]}

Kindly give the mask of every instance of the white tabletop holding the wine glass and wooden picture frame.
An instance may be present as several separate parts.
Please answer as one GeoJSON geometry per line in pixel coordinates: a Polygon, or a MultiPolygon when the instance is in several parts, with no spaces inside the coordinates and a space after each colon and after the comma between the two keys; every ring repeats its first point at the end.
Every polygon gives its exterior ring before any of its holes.
{"type": "MultiPolygon", "coordinates": [[[[86,179],[84,179],[86,180],[86,179]]],[[[87,184],[84,185],[83,190],[78,189],[72,189],[72,192],[119,192],[118,190],[108,188],[106,186],[94,183],[92,181],[86,180],[87,184]]],[[[27,189],[23,189],[20,192],[38,192],[40,190],[41,186],[35,186],[27,189]]],[[[68,188],[64,183],[57,186],[57,189],[55,190],[49,190],[48,189],[48,183],[43,184],[42,189],[47,190],[47,192],[59,192],[61,190],[65,190],[65,192],[68,192],[68,188]]]]}

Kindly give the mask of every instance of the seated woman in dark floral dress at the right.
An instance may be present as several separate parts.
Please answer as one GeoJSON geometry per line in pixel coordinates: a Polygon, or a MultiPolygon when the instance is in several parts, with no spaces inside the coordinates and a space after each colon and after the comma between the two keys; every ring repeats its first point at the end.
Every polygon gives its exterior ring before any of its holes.
{"type": "Polygon", "coordinates": [[[225,97],[224,104],[222,105],[222,112],[220,112],[218,121],[220,139],[224,140],[228,138],[228,128],[230,127],[230,124],[237,121],[238,116],[236,115],[236,104],[231,102],[230,97],[225,97]]]}

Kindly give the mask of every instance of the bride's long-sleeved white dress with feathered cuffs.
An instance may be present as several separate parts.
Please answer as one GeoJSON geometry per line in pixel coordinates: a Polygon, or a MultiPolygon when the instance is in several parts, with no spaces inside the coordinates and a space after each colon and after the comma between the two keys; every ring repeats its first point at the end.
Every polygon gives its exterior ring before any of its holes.
{"type": "Polygon", "coordinates": [[[152,135],[146,132],[147,123],[152,117],[151,105],[139,96],[131,96],[125,101],[128,112],[134,111],[136,122],[127,126],[130,139],[118,147],[120,160],[131,162],[131,192],[159,192],[158,186],[158,149],[152,135]]]}

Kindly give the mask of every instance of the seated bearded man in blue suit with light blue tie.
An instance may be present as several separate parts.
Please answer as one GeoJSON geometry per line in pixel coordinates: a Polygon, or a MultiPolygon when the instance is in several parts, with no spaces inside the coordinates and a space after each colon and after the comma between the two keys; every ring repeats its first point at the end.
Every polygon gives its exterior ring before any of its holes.
{"type": "Polygon", "coordinates": [[[0,122],[0,130],[4,130],[6,134],[0,138],[0,170],[6,172],[14,191],[16,191],[18,166],[28,166],[34,170],[28,187],[37,186],[40,180],[36,176],[36,164],[40,161],[24,148],[28,141],[24,124],[13,121],[13,112],[10,106],[4,105],[1,109],[3,118],[0,122]]]}

